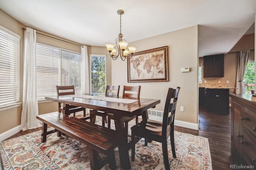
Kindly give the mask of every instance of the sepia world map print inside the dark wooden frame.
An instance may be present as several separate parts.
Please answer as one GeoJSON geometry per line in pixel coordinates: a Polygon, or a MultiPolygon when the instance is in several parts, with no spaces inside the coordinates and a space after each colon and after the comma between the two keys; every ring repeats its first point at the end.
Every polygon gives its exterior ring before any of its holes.
{"type": "Polygon", "coordinates": [[[130,80],[165,78],[164,50],[135,55],[130,59],[130,80]]]}

